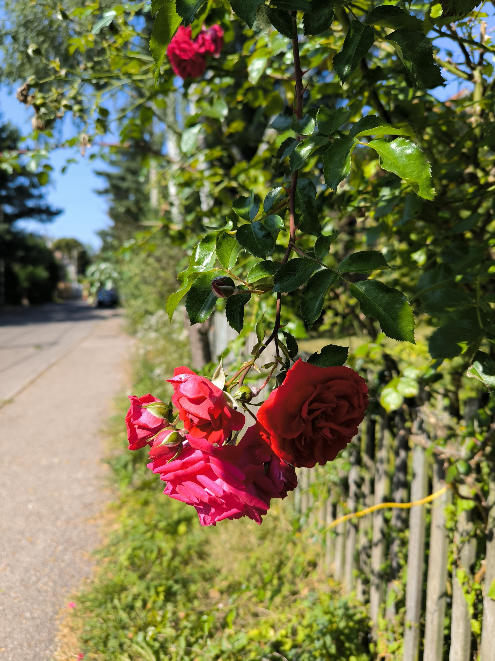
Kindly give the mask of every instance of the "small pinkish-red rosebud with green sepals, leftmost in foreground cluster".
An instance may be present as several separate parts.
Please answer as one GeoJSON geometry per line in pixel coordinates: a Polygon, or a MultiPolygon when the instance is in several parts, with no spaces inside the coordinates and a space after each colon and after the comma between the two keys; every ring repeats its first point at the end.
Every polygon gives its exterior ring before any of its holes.
{"type": "Polygon", "coordinates": [[[169,424],[166,418],[168,407],[150,394],[143,397],[131,395],[129,399],[131,406],[125,416],[128,448],[139,450],[141,447],[151,445],[152,437],[169,424]]]}

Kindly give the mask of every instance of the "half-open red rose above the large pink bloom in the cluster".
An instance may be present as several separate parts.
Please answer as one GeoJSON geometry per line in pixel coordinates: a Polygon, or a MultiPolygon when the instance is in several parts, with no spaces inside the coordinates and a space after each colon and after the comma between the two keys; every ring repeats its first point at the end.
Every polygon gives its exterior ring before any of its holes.
{"type": "Polygon", "coordinates": [[[230,432],[244,427],[244,415],[230,408],[224,393],[206,377],[181,367],[174,369],[168,381],[174,386],[172,403],[194,438],[222,445],[230,432]]]}

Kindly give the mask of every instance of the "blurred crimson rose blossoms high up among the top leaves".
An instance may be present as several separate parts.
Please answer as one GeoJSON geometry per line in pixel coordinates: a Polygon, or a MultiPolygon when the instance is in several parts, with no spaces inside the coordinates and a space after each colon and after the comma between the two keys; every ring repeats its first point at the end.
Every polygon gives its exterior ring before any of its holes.
{"type": "Polygon", "coordinates": [[[205,73],[207,54],[218,57],[224,44],[224,31],[219,25],[201,30],[195,39],[191,38],[191,26],[178,28],[168,44],[167,55],[176,75],[183,80],[199,78],[205,73]]]}

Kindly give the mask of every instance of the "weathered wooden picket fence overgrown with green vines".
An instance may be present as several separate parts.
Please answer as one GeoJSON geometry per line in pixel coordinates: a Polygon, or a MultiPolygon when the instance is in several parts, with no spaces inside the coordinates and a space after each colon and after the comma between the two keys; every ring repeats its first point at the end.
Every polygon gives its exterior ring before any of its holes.
{"type": "MultiPolygon", "coordinates": [[[[215,313],[209,336],[216,358],[237,334],[215,313]]],[[[484,548],[473,510],[464,506],[472,501],[443,488],[445,457],[434,452],[422,415],[404,407],[368,412],[348,446],[348,470],[330,469],[329,479],[328,466],[298,469],[296,516],[321,545],[327,574],[368,607],[378,658],[442,661],[448,650],[449,661],[495,661],[495,475],[484,548]],[[439,491],[428,504],[333,525],[376,504],[420,501],[439,491]],[[475,564],[480,570],[473,576],[475,564]],[[473,619],[473,584],[482,587],[482,619],[473,619]]]]}

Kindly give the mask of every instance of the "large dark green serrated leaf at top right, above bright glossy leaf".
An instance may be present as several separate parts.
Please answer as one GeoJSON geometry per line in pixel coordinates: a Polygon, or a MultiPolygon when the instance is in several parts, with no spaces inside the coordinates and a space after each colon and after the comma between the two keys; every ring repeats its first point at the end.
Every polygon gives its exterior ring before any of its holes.
{"type": "Polygon", "coordinates": [[[422,32],[401,28],[389,34],[386,40],[397,51],[416,89],[432,89],[445,83],[433,58],[432,42],[422,32]]]}

